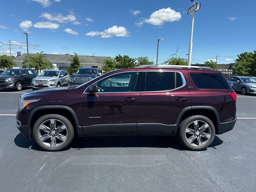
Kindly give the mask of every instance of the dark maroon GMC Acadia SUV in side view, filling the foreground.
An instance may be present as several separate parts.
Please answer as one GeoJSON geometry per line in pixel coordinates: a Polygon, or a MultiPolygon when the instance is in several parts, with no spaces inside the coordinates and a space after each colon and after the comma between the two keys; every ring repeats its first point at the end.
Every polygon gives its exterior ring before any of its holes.
{"type": "Polygon", "coordinates": [[[17,127],[48,151],[74,135],[170,135],[203,150],[236,124],[236,93],[222,74],[192,66],[140,66],[80,86],[23,94],[17,127]]]}

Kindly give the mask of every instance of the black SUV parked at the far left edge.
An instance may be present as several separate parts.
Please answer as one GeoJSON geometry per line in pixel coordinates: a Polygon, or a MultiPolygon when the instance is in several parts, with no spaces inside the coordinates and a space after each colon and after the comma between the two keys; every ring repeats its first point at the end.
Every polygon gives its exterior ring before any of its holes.
{"type": "Polygon", "coordinates": [[[0,74],[1,89],[16,89],[32,86],[32,79],[37,76],[33,69],[8,69],[0,74]]]}

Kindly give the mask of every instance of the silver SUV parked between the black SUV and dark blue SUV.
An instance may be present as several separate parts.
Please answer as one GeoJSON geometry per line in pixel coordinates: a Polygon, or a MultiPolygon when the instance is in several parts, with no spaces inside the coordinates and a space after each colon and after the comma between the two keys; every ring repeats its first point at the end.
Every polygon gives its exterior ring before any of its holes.
{"type": "Polygon", "coordinates": [[[32,79],[33,90],[68,85],[69,74],[64,70],[44,70],[36,78],[32,79]]]}

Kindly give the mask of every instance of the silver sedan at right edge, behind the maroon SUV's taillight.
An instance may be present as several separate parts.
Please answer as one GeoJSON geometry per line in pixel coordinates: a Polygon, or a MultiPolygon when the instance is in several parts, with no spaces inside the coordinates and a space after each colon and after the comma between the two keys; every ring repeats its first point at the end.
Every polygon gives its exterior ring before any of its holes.
{"type": "Polygon", "coordinates": [[[231,76],[227,79],[233,83],[233,89],[243,95],[256,94],[256,78],[244,76],[231,76]]]}

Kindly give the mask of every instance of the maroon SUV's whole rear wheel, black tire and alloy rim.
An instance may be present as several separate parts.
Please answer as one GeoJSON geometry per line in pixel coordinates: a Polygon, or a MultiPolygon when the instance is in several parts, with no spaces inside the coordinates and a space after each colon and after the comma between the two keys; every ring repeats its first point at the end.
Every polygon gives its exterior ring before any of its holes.
{"type": "Polygon", "coordinates": [[[206,149],[215,136],[215,127],[206,116],[190,116],[180,123],[177,138],[189,150],[206,149]]]}

